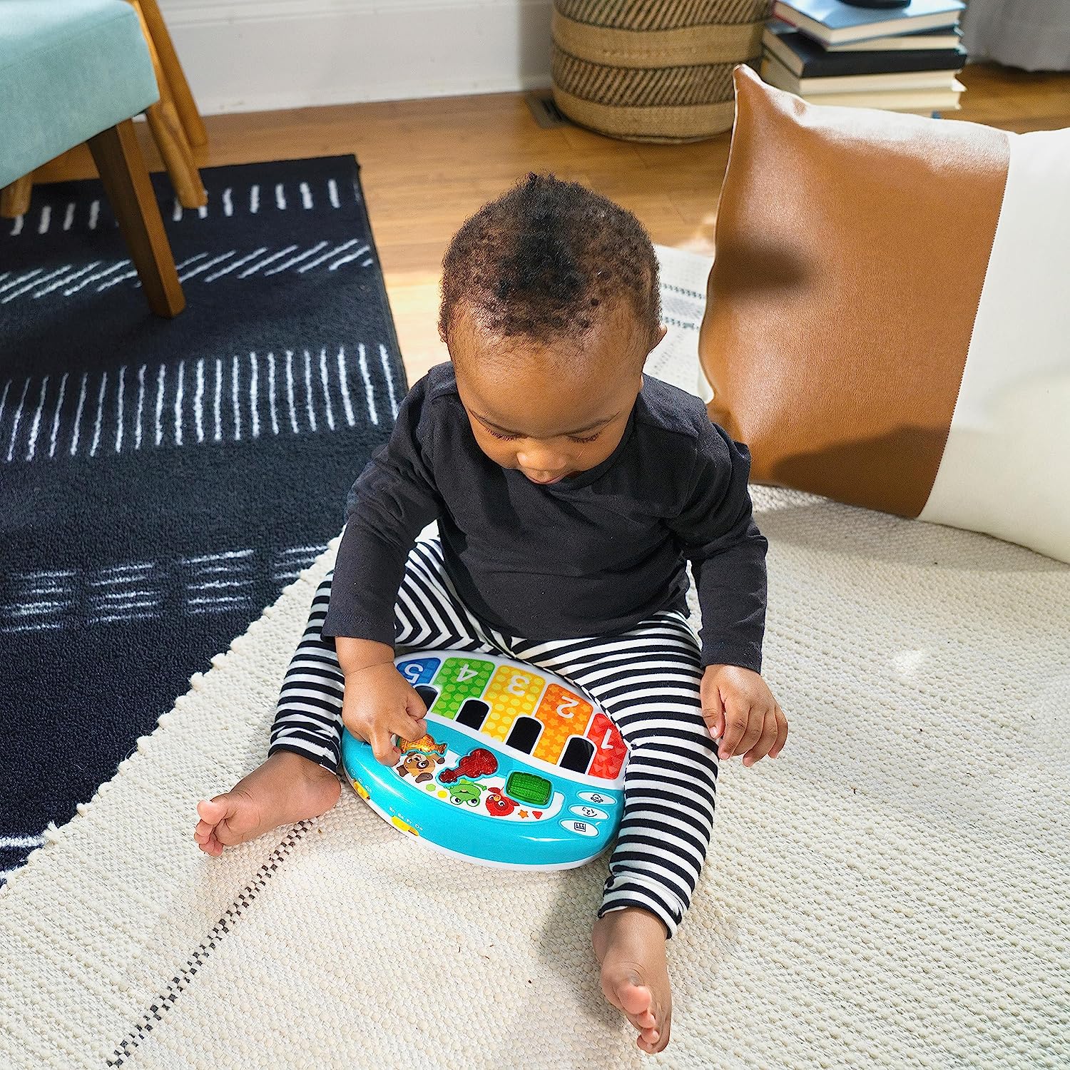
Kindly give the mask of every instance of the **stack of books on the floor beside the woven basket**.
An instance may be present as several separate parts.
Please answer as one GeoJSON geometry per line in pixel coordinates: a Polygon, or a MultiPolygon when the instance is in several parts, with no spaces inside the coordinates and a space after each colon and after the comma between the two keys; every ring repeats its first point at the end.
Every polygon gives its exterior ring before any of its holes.
{"type": "Polygon", "coordinates": [[[762,77],[814,104],[890,111],[953,111],[964,90],[960,0],[855,7],[840,0],[777,0],[763,36],[762,77]]]}

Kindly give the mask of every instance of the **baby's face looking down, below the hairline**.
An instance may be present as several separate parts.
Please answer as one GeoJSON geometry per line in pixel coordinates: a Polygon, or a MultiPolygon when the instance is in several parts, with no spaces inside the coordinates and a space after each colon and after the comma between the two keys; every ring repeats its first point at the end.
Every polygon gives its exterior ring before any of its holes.
{"type": "Polygon", "coordinates": [[[464,314],[449,336],[457,389],[479,448],[538,484],[585,472],[613,453],[652,348],[627,308],[605,316],[582,342],[503,343],[464,314]]]}

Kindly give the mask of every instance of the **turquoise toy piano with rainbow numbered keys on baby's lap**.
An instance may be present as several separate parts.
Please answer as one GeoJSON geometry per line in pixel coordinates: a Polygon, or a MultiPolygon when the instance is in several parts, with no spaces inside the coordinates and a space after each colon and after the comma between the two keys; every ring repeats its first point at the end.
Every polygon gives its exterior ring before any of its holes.
{"type": "Polygon", "coordinates": [[[489,654],[395,659],[427,705],[427,734],[394,766],[342,732],[357,794],[432,846],[488,866],[567,869],[616,834],[626,749],[616,725],[560,676],[489,654]]]}

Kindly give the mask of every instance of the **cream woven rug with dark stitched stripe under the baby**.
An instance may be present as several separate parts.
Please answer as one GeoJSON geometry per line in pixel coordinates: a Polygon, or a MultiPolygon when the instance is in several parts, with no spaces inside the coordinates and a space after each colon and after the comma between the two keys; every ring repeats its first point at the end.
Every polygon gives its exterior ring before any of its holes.
{"type": "MultiPolygon", "coordinates": [[[[667,254],[681,291],[707,266],[667,254]]],[[[693,384],[679,324],[662,371],[693,384]]],[[[1070,1065],[1070,568],[754,499],[792,734],[722,769],[663,1055],[598,989],[603,862],[468,867],[348,788],[318,821],[196,850],[197,799],[263,756],[328,551],[0,893],[0,1066],[1070,1065]]]]}

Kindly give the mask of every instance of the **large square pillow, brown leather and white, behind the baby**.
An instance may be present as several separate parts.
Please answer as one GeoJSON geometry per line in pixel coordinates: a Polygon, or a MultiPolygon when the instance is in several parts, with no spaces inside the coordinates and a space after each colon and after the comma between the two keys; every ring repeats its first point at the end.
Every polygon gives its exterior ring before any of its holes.
{"type": "Polygon", "coordinates": [[[1070,129],[734,79],[700,355],[752,478],[1070,561],[1070,129]]]}

